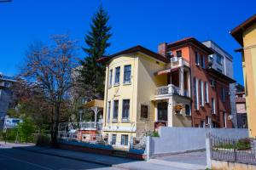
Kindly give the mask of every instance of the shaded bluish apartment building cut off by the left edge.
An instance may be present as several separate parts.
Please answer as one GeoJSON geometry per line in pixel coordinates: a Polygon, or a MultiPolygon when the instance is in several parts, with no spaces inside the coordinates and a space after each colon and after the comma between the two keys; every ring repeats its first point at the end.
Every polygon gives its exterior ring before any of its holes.
{"type": "Polygon", "coordinates": [[[0,129],[3,128],[4,117],[9,109],[12,95],[10,87],[14,82],[13,77],[7,77],[0,73],[0,129]]]}

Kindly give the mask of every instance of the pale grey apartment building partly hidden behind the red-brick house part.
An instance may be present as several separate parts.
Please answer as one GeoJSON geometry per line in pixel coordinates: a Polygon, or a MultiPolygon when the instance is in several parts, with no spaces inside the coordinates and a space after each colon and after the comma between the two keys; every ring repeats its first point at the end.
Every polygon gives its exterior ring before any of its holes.
{"type": "MultiPolygon", "coordinates": [[[[211,48],[214,54],[210,54],[208,57],[209,63],[213,69],[223,73],[225,76],[233,78],[233,57],[227,53],[224,48],[221,48],[216,42],[212,40],[202,42],[207,48],[211,48]]],[[[230,107],[233,127],[237,127],[236,118],[236,83],[230,83],[230,107]]]]}

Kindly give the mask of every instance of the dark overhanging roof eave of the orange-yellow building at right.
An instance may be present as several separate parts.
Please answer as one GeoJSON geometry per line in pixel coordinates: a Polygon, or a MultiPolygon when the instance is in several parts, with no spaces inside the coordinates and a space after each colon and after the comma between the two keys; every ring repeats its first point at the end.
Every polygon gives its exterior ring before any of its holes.
{"type": "Polygon", "coordinates": [[[256,23],[256,14],[253,14],[250,18],[242,22],[239,26],[236,26],[232,31],[230,31],[230,34],[236,39],[237,42],[240,43],[241,46],[243,46],[242,41],[242,33],[245,31],[248,27],[253,26],[253,24],[256,23]]]}

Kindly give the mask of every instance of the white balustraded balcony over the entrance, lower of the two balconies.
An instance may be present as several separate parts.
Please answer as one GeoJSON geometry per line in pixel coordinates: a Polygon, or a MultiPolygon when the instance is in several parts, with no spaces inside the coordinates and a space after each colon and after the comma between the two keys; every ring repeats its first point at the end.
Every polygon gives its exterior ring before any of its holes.
{"type": "Polygon", "coordinates": [[[181,95],[181,96],[185,96],[185,97],[190,97],[189,94],[189,90],[184,90],[184,92],[182,93],[180,88],[178,88],[177,86],[173,85],[173,84],[169,84],[167,86],[161,86],[156,88],[156,95],[157,96],[163,96],[163,95],[181,95]]]}

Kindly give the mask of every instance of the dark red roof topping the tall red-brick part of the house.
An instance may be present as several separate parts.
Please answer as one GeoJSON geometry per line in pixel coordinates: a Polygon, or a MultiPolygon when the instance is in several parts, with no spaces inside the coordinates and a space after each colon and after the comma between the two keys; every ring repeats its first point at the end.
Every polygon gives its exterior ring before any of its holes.
{"type": "Polygon", "coordinates": [[[198,40],[195,39],[195,37],[185,37],[181,40],[178,40],[177,42],[172,42],[167,44],[167,49],[168,48],[175,48],[178,45],[183,45],[186,43],[193,43],[195,44],[197,47],[205,50],[208,54],[214,54],[214,51],[212,51],[211,48],[207,48],[207,46],[205,46],[202,42],[199,42],[198,40]]]}

